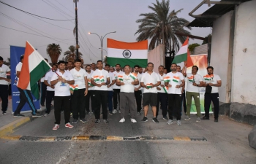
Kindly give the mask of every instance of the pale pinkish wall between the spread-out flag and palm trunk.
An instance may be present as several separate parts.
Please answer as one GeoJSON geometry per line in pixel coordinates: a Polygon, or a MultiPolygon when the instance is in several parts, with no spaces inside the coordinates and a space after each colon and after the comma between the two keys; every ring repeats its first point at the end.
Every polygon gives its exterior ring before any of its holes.
{"type": "Polygon", "coordinates": [[[160,44],[154,50],[148,52],[148,62],[154,63],[154,71],[158,73],[158,66],[164,65],[165,49],[164,45],[160,44]]]}

